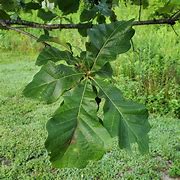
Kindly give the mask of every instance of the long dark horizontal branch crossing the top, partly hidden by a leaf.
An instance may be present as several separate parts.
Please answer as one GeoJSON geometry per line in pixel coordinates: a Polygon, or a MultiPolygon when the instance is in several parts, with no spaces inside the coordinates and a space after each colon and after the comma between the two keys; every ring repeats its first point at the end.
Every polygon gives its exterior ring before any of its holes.
{"type": "MultiPolygon", "coordinates": [[[[133,26],[141,26],[141,25],[155,25],[155,24],[168,24],[174,25],[176,21],[180,20],[180,12],[177,12],[171,18],[164,19],[153,19],[153,20],[145,20],[145,21],[134,21],[133,26]]],[[[19,25],[24,28],[36,28],[36,29],[88,29],[93,26],[91,23],[83,23],[83,24],[40,24],[36,22],[24,21],[24,20],[4,20],[0,19],[0,24],[2,26],[12,26],[19,25]]],[[[18,28],[18,26],[16,27],[18,28]]]]}

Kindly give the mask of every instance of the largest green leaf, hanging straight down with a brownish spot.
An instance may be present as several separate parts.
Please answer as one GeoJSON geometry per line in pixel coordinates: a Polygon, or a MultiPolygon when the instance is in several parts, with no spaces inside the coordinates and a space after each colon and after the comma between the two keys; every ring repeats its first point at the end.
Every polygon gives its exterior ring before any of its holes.
{"type": "Polygon", "coordinates": [[[83,168],[112,146],[112,139],[96,115],[96,95],[88,80],[64,96],[64,104],[47,123],[45,146],[53,166],[83,168]]]}

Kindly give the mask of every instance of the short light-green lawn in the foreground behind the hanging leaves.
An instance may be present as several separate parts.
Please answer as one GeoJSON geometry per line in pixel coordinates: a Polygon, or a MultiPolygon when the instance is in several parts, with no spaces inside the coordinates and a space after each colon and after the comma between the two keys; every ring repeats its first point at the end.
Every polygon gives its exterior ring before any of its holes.
{"type": "Polygon", "coordinates": [[[38,67],[33,56],[0,54],[0,179],[161,179],[180,177],[178,119],[150,118],[150,153],[140,155],[116,145],[85,169],[54,169],[44,148],[45,124],[58,103],[46,105],[24,98],[22,90],[38,67]]]}

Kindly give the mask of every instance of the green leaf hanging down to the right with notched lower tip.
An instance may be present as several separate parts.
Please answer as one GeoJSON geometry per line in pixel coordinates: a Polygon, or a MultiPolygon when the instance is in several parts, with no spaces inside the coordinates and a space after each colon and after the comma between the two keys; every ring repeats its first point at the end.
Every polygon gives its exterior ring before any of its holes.
{"type": "Polygon", "coordinates": [[[138,103],[125,100],[121,91],[108,82],[93,79],[105,98],[103,123],[112,137],[118,136],[120,148],[131,149],[131,143],[137,142],[142,153],[148,151],[147,109],[138,103]]]}

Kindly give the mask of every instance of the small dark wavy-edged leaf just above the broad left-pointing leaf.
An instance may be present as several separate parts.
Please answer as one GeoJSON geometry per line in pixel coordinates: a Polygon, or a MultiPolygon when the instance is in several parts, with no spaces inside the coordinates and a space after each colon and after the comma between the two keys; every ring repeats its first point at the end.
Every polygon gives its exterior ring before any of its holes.
{"type": "Polygon", "coordinates": [[[41,66],[48,61],[62,61],[65,60],[68,64],[73,63],[73,56],[69,51],[60,51],[55,47],[45,47],[39,54],[36,65],[41,66]]]}

